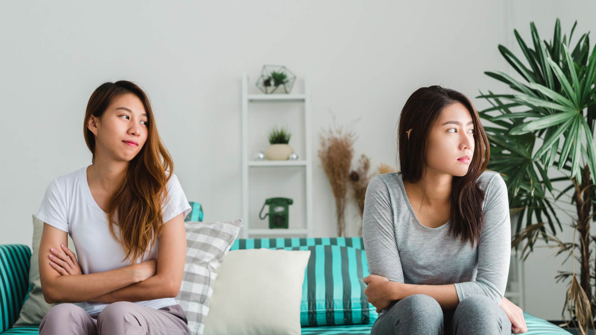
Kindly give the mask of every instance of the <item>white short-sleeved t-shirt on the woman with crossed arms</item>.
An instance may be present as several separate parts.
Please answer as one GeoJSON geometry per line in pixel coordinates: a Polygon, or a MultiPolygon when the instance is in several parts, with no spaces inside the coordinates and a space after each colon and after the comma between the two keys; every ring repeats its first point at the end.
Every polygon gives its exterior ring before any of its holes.
{"type": "MultiPolygon", "coordinates": [[[[55,178],[45,191],[44,200],[37,217],[46,224],[66,231],[75,243],[77,259],[83,274],[105,272],[130,265],[126,254],[110,234],[106,213],[95,202],[87,182],[87,166],[75,172],[55,178]],[[122,261],[124,259],[124,261],[122,261]]],[[[166,172],[167,175],[167,172],[166,172]]],[[[163,222],[167,222],[180,213],[186,217],[191,211],[187,197],[176,174],[167,181],[168,201],[162,208],[163,222]]],[[[116,235],[120,229],[114,225],[116,235]]],[[[153,244],[151,255],[147,252],[142,260],[157,259],[157,239],[153,244]]],[[[70,246],[69,246],[70,247],[70,246]]],[[[159,309],[176,305],[172,297],[136,302],[139,305],[159,309]]],[[[101,312],[108,303],[80,302],[76,303],[88,314],[101,312]]]]}

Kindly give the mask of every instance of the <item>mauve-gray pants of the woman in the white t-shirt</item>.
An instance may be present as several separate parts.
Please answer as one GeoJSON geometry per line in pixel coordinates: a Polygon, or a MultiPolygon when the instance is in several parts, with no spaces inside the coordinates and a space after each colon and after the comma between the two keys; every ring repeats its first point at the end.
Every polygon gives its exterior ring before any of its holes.
{"type": "Polygon", "coordinates": [[[180,305],[160,309],[134,302],[110,303],[103,311],[88,314],[73,303],[61,303],[50,308],[39,324],[40,335],[188,335],[188,320],[180,305]]]}

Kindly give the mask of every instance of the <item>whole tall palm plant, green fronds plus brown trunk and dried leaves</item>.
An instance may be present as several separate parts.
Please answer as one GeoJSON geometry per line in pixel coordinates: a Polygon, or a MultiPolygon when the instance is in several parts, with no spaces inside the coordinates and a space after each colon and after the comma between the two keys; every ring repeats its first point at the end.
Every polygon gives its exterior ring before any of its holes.
{"type": "Polygon", "coordinates": [[[495,125],[485,127],[491,142],[489,168],[503,174],[510,193],[511,213],[516,214],[512,246],[518,250],[523,244],[525,260],[536,241],[544,240],[558,248],[557,255],[568,254],[565,260],[578,260],[579,283],[575,267],[574,272],[559,271],[557,281],[571,280],[563,311],[567,308],[572,321],[585,330],[588,323],[594,327],[592,311],[596,311],[591,283],[596,278],[596,260],[591,258],[596,235],[589,229],[590,221],[596,221],[596,48],[590,53],[589,32],[571,48],[576,25],[577,21],[567,39],[567,35],[561,37],[557,19],[552,40],[547,42],[530,23],[533,48],[514,30],[525,62],[505,46],[499,45],[499,51],[516,70],[516,78],[499,71],[485,72],[513,93],[480,91],[477,98],[492,105],[479,114],[495,125]],[[564,176],[549,177],[555,166],[564,176]],[[561,182],[563,189],[554,188],[553,182],[561,182]],[[564,211],[557,201],[563,195],[569,197],[569,191],[573,191],[570,202],[575,203],[570,226],[577,229],[579,243],[575,237],[567,243],[556,236],[563,227],[555,207],[564,211]]]}

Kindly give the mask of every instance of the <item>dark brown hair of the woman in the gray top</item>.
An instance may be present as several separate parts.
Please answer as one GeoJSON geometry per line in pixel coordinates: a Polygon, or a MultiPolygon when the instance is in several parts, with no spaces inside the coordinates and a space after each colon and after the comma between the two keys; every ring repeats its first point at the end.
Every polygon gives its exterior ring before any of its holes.
{"type": "Polygon", "coordinates": [[[417,89],[406,101],[399,118],[399,165],[403,179],[417,182],[426,167],[428,138],[443,108],[461,103],[470,112],[474,123],[474,154],[468,173],[453,176],[449,234],[460,236],[462,243],[469,241],[473,247],[480,240],[484,226],[482,201],[485,198],[476,179],[486,170],[491,149],[480,124],[478,112],[471,101],[460,92],[441,86],[417,89]],[[412,129],[408,139],[407,131],[412,129]]]}

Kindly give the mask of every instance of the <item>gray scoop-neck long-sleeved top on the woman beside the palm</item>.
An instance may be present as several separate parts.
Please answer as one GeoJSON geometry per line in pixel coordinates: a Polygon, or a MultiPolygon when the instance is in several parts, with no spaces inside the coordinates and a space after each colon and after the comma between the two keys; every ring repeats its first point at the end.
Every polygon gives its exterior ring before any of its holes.
{"type": "Polygon", "coordinates": [[[469,242],[448,235],[451,221],[437,228],[420,224],[406,197],[401,173],[373,178],[362,218],[370,273],[406,284],[455,284],[460,302],[483,295],[500,305],[511,257],[507,185],[499,173],[488,170],[477,181],[485,190],[485,226],[479,243],[471,248],[469,242]]]}

